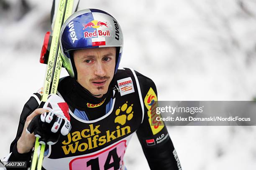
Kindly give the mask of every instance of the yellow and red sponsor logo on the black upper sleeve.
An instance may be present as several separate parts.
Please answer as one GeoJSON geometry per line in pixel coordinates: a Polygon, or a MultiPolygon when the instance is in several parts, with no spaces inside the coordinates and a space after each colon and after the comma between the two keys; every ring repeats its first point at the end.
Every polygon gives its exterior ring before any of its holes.
{"type": "Polygon", "coordinates": [[[152,130],[152,133],[153,135],[156,135],[164,128],[164,122],[156,120],[156,117],[159,117],[160,115],[156,114],[157,96],[151,87],[148,90],[146,97],[144,98],[144,103],[146,108],[148,109],[148,121],[149,121],[149,124],[151,125],[150,127],[152,130]]]}

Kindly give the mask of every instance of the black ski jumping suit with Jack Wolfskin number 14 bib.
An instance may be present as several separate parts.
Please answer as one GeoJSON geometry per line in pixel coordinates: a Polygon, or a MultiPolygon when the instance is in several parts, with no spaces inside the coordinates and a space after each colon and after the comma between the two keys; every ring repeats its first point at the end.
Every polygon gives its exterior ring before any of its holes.
{"type": "MultiPolygon", "coordinates": [[[[132,69],[120,69],[108,93],[95,99],[68,76],[60,80],[57,94],[69,105],[72,129],[47,148],[42,169],[125,170],[123,156],[136,133],[151,170],[181,170],[164,122],[153,121],[150,125],[151,119],[159,115],[151,115],[151,107],[156,107],[157,92],[148,77],[132,69]]],[[[31,159],[32,151],[17,152],[17,141],[26,117],[39,106],[40,98],[39,93],[34,93],[25,104],[16,138],[5,160],[29,162],[31,159]]]]}

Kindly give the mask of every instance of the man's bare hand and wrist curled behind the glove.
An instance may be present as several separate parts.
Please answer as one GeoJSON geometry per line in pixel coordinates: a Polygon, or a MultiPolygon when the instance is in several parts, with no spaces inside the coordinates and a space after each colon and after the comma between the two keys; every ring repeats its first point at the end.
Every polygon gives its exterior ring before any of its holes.
{"type": "Polygon", "coordinates": [[[36,137],[34,134],[30,134],[26,132],[26,129],[28,125],[30,124],[31,120],[36,116],[36,115],[41,115],[44,112],[48,112],[48,110],[44,108],[39,108],[34,110],[26,119],[22,134],[17,142],[17,150],[18,153],[28,153],[35,144],[36,137]]]}

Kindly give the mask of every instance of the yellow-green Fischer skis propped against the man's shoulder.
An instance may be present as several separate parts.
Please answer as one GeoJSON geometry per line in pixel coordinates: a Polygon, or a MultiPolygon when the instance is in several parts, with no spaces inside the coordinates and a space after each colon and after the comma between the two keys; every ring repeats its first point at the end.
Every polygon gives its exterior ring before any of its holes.
{"type": "MultiPolygon", "coordinates": [[[[59,33],[64,21],[67,20],[67,18],[73,13],[73,7],[76,6],[75,9],[77,9],[78,3],[79,1],[76,1],[75,5],[74,0],[59,0],[59,5],[55,6],[55,0],[53,2],[54,16],[51,20],[54,20],[54,18],[55,20],[52,23],[53,33],[49,50],[49,56],[47,57],[48,61],[44,81],[44,93],[41,97],[42,102],[46,102],[49,94],[56,94],[57,92],[62,65],[61,54],[59,49],[59,33]]],[[[44,158],[44,150],[45,145],[40,145],[38,138],[36,138],[33,156],[31,160],[31,170],[41,170],[44,158]],[[40,154],[38,158],[39,149],[40,154]]]]}

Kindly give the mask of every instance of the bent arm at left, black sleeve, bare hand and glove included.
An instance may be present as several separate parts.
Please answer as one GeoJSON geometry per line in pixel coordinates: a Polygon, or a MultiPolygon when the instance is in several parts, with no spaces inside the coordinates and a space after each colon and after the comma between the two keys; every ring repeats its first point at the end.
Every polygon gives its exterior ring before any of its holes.
{"type": "Polygon", "coordinates": [[[36,109],[39,106],[40,97],[39,93],[38,96],[34,94],[25,104],[16,138],[10,147],[12,153],[8,161],[26,161],[29,167],[35,136],[38,136],[41,144],[54,145],[58,142],[59,135],[67,135],[70,132],[67,103],[58,95],[49,95],[46,102],[41,102],[44,107],[36,109]]]}

